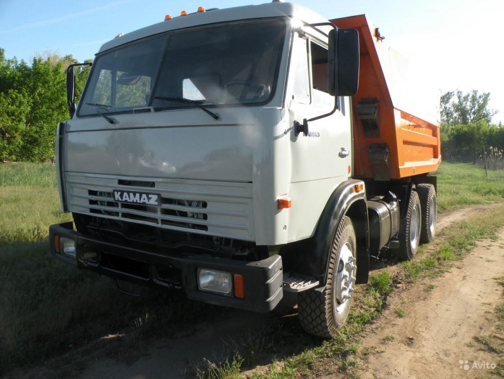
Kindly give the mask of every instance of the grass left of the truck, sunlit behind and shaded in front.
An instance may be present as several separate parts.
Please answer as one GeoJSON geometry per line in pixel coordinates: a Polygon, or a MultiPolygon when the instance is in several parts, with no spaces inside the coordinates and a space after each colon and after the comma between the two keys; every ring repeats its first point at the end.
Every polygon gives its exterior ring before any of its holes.
{"type": "Polygon", "coordinates": [[[128,297],[113,280],[51,257],[49,226],[71,219],[52,164],[0,164],[0,209],[0,376],[125,329],[139,339],[218,309],[164,292],[128,297]]]}

